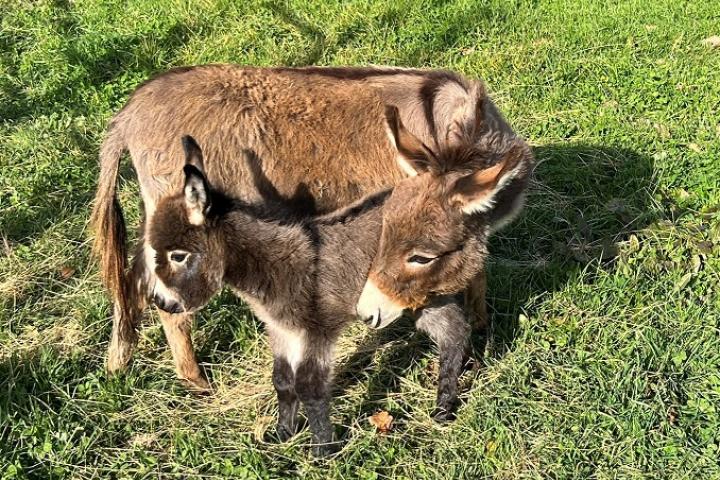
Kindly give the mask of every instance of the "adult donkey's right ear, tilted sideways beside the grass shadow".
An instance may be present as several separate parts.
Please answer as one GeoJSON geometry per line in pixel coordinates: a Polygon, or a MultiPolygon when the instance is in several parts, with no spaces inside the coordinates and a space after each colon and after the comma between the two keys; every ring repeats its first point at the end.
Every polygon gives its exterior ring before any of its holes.
{"type": "Polygon", "coordinates": [[[518,175],[528,155],[527,146],[516,142],[492,167],[458,179],[452,187],[452,198],[466,214],[489,211],[497,193],[518,175]]]}

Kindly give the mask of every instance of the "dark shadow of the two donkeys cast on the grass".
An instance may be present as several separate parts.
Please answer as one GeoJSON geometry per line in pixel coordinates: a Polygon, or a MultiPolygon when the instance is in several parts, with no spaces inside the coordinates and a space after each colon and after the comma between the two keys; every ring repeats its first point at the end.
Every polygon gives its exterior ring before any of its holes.
{"type": "MultiPolygon", "coordinates": [[[[612,269],[616,244],[658,219],[652,202],[653,164],[647,155],[583,143],[541,146],[534,153],[537,165],[526,206],[490,242],[490,328],[472,335],[473,370],[481,368],[486,356],[502,358],[512,349],[518,315],[526,309],[532,314],[532,299],[562,289],[581,272],[588,282],[593,271],[612,269]]],[[[431,349],[411,322],[397,322],[338,367],[337,393],[365,381],[359,412],[372,413],[431,349]],[[388,343],[382,359],[373,364],[377,348],[388,343]]]]}

